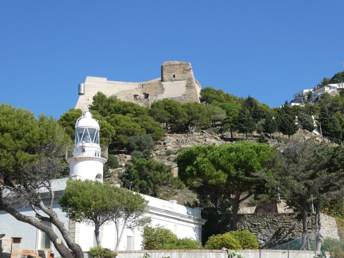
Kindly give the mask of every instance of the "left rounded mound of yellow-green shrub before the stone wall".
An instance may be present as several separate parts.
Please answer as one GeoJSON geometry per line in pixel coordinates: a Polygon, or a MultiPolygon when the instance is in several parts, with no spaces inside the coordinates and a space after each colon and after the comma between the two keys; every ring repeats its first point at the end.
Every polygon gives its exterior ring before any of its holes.
{"type": "Polygon", "coordinates": [[[223,247],[231,250],[242,249],[240,242],[235,239],[230,232],[212,235],[208,238],[208,241],[206,241],[204,245],[205,249],[222,249],[223,247]]]}

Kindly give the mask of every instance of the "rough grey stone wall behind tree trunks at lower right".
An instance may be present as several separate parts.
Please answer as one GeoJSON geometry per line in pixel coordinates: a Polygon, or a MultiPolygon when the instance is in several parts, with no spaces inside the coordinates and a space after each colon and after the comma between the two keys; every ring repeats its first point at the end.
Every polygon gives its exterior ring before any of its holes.
{"type": "MultiPolygon", "coordinates": [[[[337,238],[337,223],[333,217],[321,214],[320,234],[337,238]]],[[[314,232],[315,214],[308,220],[308,232],[314,232]]],[[[252,213],[238,214],[237,228],[249,230],[257,236],[259,246],[275,246],[302,235],[302,220],[298,213],[252,213]]]]}

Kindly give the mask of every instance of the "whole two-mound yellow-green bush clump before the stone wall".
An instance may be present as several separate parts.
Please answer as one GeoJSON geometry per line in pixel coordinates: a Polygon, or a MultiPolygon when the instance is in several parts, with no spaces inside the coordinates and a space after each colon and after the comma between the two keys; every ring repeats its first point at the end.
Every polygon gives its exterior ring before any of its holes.
{"type": "Polygon", "coordinates": [[[205,249],[258,249],[258,241],[248,230],[229,231],[224,234],[212,235],[205,243],[205,249]]]}

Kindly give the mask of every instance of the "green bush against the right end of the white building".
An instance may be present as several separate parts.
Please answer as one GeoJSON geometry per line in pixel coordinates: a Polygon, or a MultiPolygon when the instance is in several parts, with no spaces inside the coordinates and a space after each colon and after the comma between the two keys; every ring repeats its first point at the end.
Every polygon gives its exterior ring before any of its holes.
{"type": "Polygon", "coordinates": [[[169,229],[163,227],[144,227],[143,250],[177,250],[177,249],[201,249],[201,243],[190,239],[178,237],[169,229]]]}

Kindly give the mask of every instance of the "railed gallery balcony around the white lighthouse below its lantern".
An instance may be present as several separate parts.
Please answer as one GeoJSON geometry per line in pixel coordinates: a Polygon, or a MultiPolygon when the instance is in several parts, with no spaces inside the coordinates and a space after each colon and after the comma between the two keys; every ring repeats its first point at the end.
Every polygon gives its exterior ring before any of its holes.
{"type": "Polygon", "coordinates": [[[66,159],[81,156],[108,159],[108,147],[103,144],[98,145],[95,143],[76,143],[68,146],[66,150],[66,159]]]}

